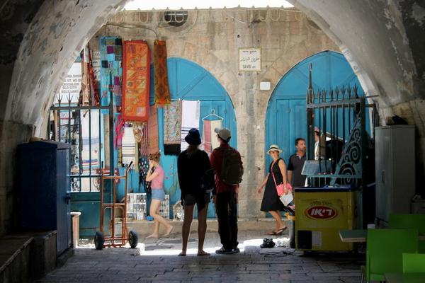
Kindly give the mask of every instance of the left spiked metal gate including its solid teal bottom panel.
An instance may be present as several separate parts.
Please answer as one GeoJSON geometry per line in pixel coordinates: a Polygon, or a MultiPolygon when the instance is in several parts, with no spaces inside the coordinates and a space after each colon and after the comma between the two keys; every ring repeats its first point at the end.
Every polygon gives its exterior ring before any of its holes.
{"type": "MultiPolygon", "coordinates": [[[[112,92],[109,94],[113,96],[112,92]]],[[[57,103],[50,108],[47,139],[71,145],[71,210],[82,212],[81,235],[92,236],[100,217],[101,166],[108,168],[106,174],[115,171],[113,130],[110,130],[113,129],[113,103],[84,106],[71,94],[67,102],[62,103],[63,99],[58,96],[57,103]]]]}

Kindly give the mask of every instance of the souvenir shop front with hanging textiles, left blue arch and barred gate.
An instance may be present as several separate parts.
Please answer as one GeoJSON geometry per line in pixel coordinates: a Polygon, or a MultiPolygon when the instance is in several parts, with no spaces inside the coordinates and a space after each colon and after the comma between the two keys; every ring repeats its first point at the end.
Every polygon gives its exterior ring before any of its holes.
{"type": "MultiPolygon", "coordinates": [[[[160,152],[166,191],[161,213],[172,219],[180,200],[176,162],[188,130],[200,130],[209,154],[217,146],[215,127],[228,127],[237,137],[225,88],[200,65],[167,57],[165,41],[101,37],[99,43],[99,50],[87,45],[70,69],[50,109],[48,130],[49,139],[72,144],[71,210],[82,213],[82,236],[98,227],[101,168],[123,175],[132,162],[128,217],[143,221],[149,211],[148,155],[160,152]],[[92,58],[96,52],[100,59],[92,58]]],[[[237,146],[237,139],[230,144],[237,146]]],[[[124,182],[117,185],[123,202],[124,182]]],[[[212,207],[208,217],[215,217],[212,207]]]]}

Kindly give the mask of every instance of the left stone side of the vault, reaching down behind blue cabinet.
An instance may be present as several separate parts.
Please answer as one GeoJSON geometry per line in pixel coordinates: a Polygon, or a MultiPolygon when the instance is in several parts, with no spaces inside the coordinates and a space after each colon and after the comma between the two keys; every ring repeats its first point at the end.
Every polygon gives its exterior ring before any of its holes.
{"type": "Polygon", "coordinates": [[[79,50],[124,0],[0,4],[0,236],[16,226],[16,146],[42,136],[43,122],[79,50]],[[84,30],[81,33],[81,30],[84,30]]]}

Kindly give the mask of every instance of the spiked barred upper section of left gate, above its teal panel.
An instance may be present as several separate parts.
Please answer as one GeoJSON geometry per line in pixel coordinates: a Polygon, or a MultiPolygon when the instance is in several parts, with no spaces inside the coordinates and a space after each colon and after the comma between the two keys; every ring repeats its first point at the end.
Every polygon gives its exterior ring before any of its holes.
{"type": "Polygon", "coordinates": [[[71,145],[71,192],[98,192],[103,163],[109,168],[104,174],[114,172],[111,91],[109,95],[110,105],[82,106],[73,102],[69,93],[66,103],[58,96],[57,103],[50,107],[47,139],[71,145]]]}

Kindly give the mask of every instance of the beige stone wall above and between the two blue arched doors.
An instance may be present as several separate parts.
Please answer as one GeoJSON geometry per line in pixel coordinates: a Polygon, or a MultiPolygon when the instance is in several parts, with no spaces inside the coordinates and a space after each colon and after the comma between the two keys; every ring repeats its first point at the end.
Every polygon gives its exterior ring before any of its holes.
{"type": "Polygon", "coordinates": [[[273,88],[302,59],[324,50],[339,51],[338,47],[295,9],[189,11],[180,27],[172,27],[162,15],[120,12],[96,33],[91,47],[98,50],[101,36],[120,36],[147,40],[153,48],[160,37],[166,39],[169,57],[191,60],[210,71],[229,93],[236,113],[238,149],[245,166],[239,215],[263,216],[256,187],[264,178],[264,125],[273,88]],[[239,47],[261,48],[261,71],[239,72],[239,47]],[[260,91],[260,81],[270,81],[271,91],[260,91]]]}

